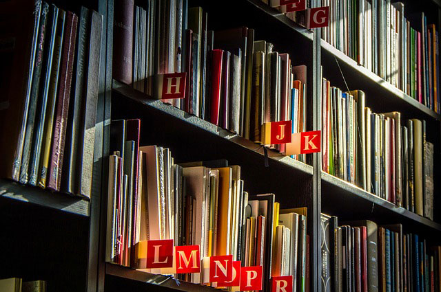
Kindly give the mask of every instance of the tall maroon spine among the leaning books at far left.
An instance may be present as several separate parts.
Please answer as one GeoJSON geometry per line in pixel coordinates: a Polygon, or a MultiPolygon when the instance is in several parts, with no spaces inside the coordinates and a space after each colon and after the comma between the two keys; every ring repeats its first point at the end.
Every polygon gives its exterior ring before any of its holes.
{"type": "MultiPolygon", "coordinates": [[[[72,67],[76,43],[76,26],[78,16],[68,12],[64,30],[63,55],[61,56],[61,69],[59,91],[57,98],[57,112],[54,120],[54,134],[52,136],[52,156],[49,163],[48,188],[60,190],[61,168],[63,166],[64,142],[66,123],[68,122],[70,86],[72,83],[72,67]]],[[[67,174],[69,175],[69,174],[67,174]]]]}

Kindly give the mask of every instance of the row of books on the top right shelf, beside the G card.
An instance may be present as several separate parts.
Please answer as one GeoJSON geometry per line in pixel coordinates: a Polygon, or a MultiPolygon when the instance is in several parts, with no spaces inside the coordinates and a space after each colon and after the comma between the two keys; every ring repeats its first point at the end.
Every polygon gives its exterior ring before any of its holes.
{"type": "Polygon", "coordinates": [[[424,12],[404,14],[390,0],[322,0],[329,27],[322,39],[391,85],[440,113],[439,47],[424,12]]]}

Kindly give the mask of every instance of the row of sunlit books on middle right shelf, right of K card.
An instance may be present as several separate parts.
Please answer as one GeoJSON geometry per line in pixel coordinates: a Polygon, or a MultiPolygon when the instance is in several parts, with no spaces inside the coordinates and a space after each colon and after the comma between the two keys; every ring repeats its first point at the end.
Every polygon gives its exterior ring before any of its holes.
{"type": "Polygon", "coordinates": [[[433,144],[425,121],[373,113],[363,91],[322,79],[322,170],[433,220],[433,144]]]}

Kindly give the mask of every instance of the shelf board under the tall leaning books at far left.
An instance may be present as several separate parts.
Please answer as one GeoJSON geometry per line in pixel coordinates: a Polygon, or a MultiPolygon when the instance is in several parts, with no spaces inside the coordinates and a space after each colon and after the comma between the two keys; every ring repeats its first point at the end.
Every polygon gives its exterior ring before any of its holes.
{"type": "Polygon", "coordinates": [[[50,192],[6,179],[0,179],[0,197],[50,207],[81,216],[89,216],[90,214],[90,202],[78,196],[50,192]]]}

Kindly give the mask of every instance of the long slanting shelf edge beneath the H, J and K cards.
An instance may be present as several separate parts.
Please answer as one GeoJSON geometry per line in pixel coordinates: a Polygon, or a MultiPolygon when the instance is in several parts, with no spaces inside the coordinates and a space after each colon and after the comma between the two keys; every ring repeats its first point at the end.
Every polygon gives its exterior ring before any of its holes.
{"type": "MultiPolygon", "coordinates": [[[[141,104],[145,104],[145,106],[150,106],[167,115],[172,115],[174,117],[177,117],[178,119],[183,120],[184,122],[197,126],[198,128],[201,128],[204,131],[222,137],[223,139],[227,139],[232,143],[238,144],[243,148],[253,151],[254,153],[259,153],[260,155],[264,155],[263,146],[260,146],[259,144],[249,141],[248,139],[245,139],[243,137],[240,137],[239,135],[229,132],[223,128],[220,128],[210,122],[202,120],[201,118],[196,117],[195,115],[189,115],[189,113],[186,113],[181,109],[177,109],[171,104],[165,104],[161,100],[154,100],[147,94],[142,93],[141,91],[137,91],[132,87],[125,85],[119,81],[113,80],[113,89],[127,98],[135,100],[136,102],[140,102],[141,104]]],[[[281,164],[285,164],[300,172],[305,172],[307,175],[312,175],[312,166],[309,166],[308,164],[304,164],[303,162],[297,161],[295,159],[291,159],[291,157],[282,155],[275,150],[269,149],[267,153],[270,159],[279,161],[281,164]]]]}

